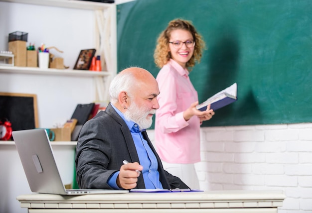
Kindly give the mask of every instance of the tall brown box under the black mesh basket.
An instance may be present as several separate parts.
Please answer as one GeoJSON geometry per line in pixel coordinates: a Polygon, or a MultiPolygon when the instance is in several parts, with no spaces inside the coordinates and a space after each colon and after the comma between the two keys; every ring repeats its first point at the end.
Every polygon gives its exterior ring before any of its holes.
{"type": "Polygon", "coordinates": [[[26,41],[8,42],[8,51],[14,54],[14,66],[26,67],[26,41]]]}

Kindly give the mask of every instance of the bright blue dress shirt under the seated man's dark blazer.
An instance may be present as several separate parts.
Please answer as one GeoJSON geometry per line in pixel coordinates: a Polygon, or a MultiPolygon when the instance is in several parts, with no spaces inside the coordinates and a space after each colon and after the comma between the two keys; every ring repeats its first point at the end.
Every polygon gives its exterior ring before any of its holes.
{"type": "MultiPolygon", "coordinates": [[[[145,129],[140,131],[138,124],[133,121],[126,120],[124,114],[120,110],[118,110],[115,106],[113,106],[113,108],[124,119],[132,134],[133,141],[135,143],[139,156],[140,164],[143,166],[142,174],[145,188],[162,189],[162,185],[159,181],[159,173],[157,170],[158,163],[156,156],[153,153],[151,147],[148,145],[148,142],[143,138],[142,135],[142,131],[145,131],[145,129]]],[[[120,189],[116,183],[118,175],[119,171],[115,172],[107,182],[108,185],[110,185],[113,189],[120,189]]]]}

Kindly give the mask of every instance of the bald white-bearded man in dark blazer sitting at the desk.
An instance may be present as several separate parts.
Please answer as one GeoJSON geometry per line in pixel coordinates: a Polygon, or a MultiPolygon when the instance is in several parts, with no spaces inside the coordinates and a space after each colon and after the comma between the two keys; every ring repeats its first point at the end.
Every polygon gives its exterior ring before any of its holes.
{"type": "Polygon", "coordinates": [[[156,79],[145,69],[128,68],[113,79],[111,103],[87,121],[79,135],[75,163],[80,188],[188,188],[163,170],[145,131],[159,108],[158,94],[156,79]]]}

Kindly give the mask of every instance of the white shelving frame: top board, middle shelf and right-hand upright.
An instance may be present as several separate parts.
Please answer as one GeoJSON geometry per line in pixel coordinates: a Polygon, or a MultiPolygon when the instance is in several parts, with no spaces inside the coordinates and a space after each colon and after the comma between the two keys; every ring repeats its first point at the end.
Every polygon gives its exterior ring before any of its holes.
{"type": "Polygon", "coordinates": [[[96,49],[101,56],[102,72],[80,70],[39,69],[29,67],[8,67],[0,65],[0,73],[79,76],[94,78],[97,101],[108,100],[108,87],[117,73],[117,22],[116,4],[86,0],[0,0],[3,2],[34,4],[42,6],[65,7],[73,9],[94,10],[96,17],[96,49]],[[105,92],[103,92],[105,91],[105,92]]]}

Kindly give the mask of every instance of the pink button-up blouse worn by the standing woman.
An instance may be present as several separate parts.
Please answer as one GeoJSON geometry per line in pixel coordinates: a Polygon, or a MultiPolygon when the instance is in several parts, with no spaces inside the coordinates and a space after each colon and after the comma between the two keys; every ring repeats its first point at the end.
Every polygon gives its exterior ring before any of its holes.
{"type": "Polygon", "coordinates": [[[198,101],[189,72],[170,59],[159,71],[155,144],[160,159],[167,163],[200,161],[200,120],[197,116],[185,121],[183,111],[198,101]]]}

